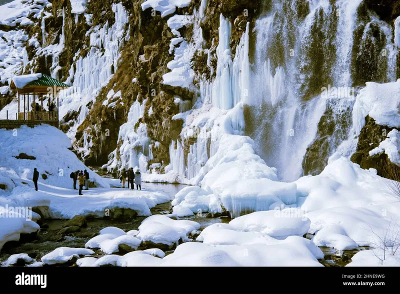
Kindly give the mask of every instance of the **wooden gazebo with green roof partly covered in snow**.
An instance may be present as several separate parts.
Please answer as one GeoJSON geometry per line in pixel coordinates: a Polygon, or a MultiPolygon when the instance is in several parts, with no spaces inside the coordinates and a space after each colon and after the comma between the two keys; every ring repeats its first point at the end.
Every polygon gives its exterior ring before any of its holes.
{"type": "Polygon", "coordinates": [[[43,73],[25,74],[14,76],[10,89],[18,92],[18,120],[36,120],[42,122],[59,121],[58,93],[69,86],[51,76],[43,73]],[[23,97],[23,104],[21,103],[23,97]],[[43,96],[48,97],[49,109],[43,108],[43,96]],[[30,106],[30,97],[33,104],[30,106]],[[36,97],[40,104],[36,105],[36,97]],[[55,104],[55,99],[56,104],[55,104]],[[21,111],[22,110],[22,111],[21,111]]]}

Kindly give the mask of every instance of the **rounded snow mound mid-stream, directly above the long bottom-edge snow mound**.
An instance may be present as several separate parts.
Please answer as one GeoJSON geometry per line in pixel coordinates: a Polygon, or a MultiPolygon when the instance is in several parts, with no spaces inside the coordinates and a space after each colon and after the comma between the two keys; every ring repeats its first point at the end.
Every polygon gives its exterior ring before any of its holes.
{"type": "Polygon", "coordinates": [[[191,220],[174,220],[165,215],[154,214],[142,221],[136,237],[142,241],[166,244],[178,244],[179,239],[187,241],[187,234],[198,229],[200,224],[191,220]]]}

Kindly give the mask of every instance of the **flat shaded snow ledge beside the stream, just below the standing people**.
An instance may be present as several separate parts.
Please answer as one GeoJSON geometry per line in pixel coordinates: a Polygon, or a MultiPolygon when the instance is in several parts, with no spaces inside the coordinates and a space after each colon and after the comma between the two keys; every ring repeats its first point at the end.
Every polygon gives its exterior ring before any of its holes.
{"type": "MultiPolygon", "coordinates": [[[[40,186],[39,186],[40,189],[40,186]]],[[[150,215],[150,208],[169,201],[163,192],[124,190],[120,188],[90,188],[79,196],[76,190],[44,186],[44,191],[16,187],[7,198],[20,206],[49,206],[48,218],[72,218],[75,215],[104,217],[114,207],[135,210],[138,215],[150,215]]]]}

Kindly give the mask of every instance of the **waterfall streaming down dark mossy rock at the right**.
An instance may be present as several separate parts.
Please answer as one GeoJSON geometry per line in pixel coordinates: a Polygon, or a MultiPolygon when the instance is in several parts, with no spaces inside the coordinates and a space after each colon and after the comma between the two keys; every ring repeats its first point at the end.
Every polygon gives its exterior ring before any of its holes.
{"type": "Polygon", "coordinates": [[[361,0],[264,0],[251,36],[253,91],[247,101],[246,133],[281,180],[320,172],[346,139],[342,133],[351,126],[351,115],[345,121],[333,117],[333,131],[329,124],[330,129],[318,125],[330,104],[333,114],[347,113],[347,101],[353,101],[358,86],[395,81],[391,30],[361,0]],[[322,152],[308,154],[314,162],[312,169],[304,170],[307,147],[318,132],[332,132],[333,139],[322,152]],[[314,166],[317,161],[321,163],[314,166]]]}

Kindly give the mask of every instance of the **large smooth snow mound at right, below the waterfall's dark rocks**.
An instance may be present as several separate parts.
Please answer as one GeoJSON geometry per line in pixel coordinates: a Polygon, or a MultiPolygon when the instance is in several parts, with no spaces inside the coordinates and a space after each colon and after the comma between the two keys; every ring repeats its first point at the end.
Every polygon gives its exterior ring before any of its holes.
{"type": "Polygon", "coordinates": [[[378,243],[391,220],[400,216],[388,181],[344,157],[319,175],[298,179],[296,204],[311,220],[315,244],[344,250],[378,243]]]}

